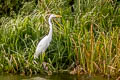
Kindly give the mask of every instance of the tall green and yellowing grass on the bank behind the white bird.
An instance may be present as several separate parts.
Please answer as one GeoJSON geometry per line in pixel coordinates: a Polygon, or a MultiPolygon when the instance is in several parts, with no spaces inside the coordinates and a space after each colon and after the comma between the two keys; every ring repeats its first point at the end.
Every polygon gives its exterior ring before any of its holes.
{"type": "Polygon", "coordinates": [[[77,0],[72,13],[67,4],[64,0],[44,0],[28,13],[23,7],[14,18],[2,17],[0,70],[49,74],[78,69],[78,74],[119,75],[120,5],[109,0],[77,0]],[[47,13],[62,18],[53,20],[53,39],[44,58],[48,69],[44,70],[40,58],[33,64],[33,54],[49,31],[47,13]]]}

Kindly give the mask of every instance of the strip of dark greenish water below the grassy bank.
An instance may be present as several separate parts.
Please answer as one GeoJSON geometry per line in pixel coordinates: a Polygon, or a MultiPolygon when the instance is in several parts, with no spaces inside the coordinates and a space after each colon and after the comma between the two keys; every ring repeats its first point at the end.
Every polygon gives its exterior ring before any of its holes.
{"type": "Polygon", "coordinates": [[[112,80],[104,78],[103,76],[89,76],[89,75],[69,75],[69,74],[54,74],[52,76],[48,75],[35,75],[32,77],[13,75],[13,74],[1,74],[0,80],[112,80]]]}

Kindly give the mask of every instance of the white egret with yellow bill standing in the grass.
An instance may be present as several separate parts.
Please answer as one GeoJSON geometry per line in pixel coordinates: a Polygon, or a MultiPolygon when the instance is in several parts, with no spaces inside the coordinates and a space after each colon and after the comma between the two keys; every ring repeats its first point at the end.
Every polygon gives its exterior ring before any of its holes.
{"type": "Polygon", "coordinates": [[[55,15],[55,14],[51,14],[48,22],[49,22],[49,34],[46,35],[37,45],[35,54],[34,54],[34,59],[38,58],[38,56],[42,53],[45,52],[45,50],[48,48],[48,46],[50,45],[50,42],[52,40],[52,23],[51,23],[51,19],[54,17],[61,17],[60,15],[55,15]]]}

